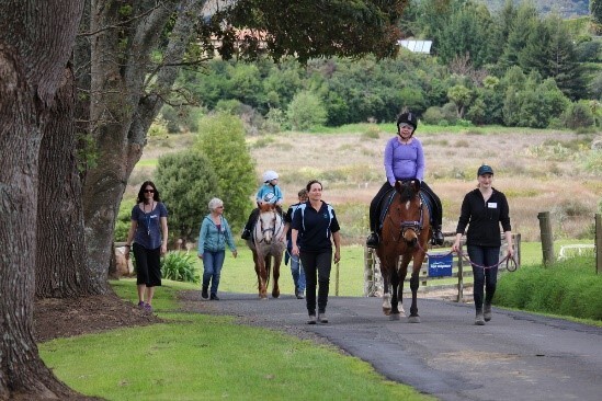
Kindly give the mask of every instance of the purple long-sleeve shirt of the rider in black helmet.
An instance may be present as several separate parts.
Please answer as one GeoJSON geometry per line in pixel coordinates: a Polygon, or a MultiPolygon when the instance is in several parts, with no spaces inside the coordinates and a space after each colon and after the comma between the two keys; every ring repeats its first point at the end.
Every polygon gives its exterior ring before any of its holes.
{"type": "Polygon", "coordinates": [[[390,138],[385,147],[385,173],[391,185],[396,180],[424,180],[422,142],[416,137],[407,145],[399,142],[397,137],[390,138]]]}

